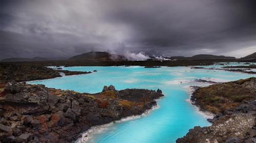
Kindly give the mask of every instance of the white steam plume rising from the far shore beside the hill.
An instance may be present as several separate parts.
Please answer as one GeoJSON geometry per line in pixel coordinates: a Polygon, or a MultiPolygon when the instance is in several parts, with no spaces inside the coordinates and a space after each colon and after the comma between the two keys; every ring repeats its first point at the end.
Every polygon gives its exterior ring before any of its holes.
{"type": "Polygon", "coordinates": [[[144,52],[134,53],[130,51],[124,51],[123,55],[130,61],[144,61],[150,59],[150,56],[146,55],[144,52]]]}

